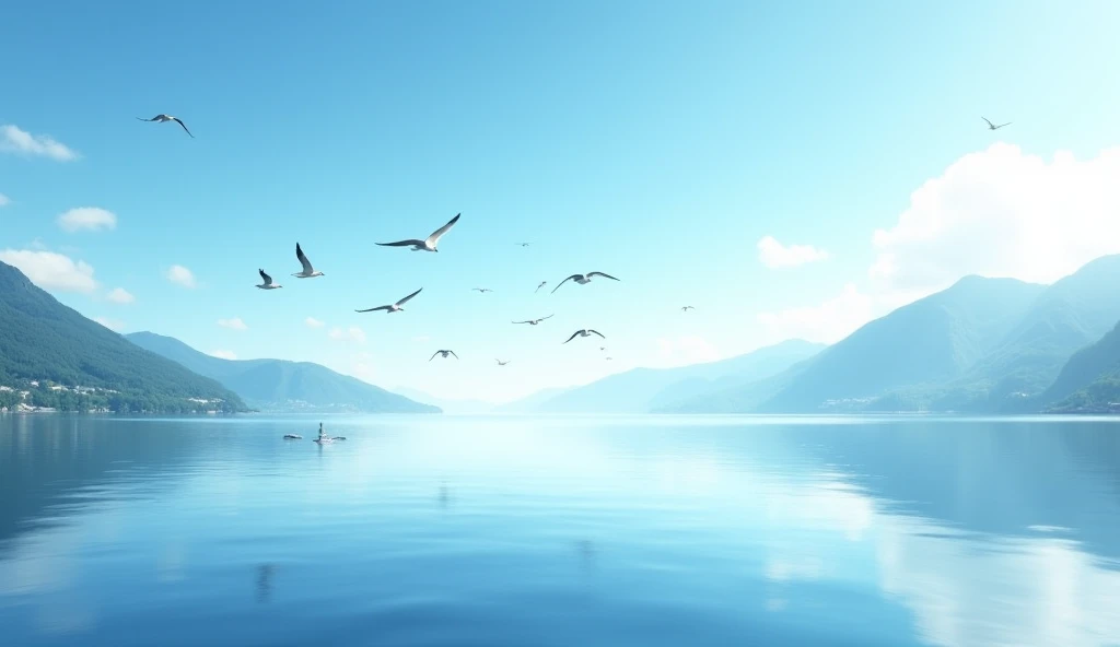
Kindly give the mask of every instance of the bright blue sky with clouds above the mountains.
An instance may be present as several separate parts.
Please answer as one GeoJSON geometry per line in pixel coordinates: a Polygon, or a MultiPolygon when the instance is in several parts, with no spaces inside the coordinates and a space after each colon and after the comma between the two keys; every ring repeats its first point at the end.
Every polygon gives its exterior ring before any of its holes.
{"type": "Polygon", "coordinates": [[[3,10],[0,260],[207,353],[502,401],[1120,251],[1112,2],[63,4],[3,10]]]}

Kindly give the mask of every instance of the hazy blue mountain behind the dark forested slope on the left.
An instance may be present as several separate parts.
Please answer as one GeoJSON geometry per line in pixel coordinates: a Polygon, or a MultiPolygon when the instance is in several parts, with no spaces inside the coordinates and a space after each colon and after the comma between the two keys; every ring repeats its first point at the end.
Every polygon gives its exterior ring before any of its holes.
{"type": "Polygon", "coordinates": [[[222,383],[245,402],[265,411],[347,411],[362,413],[439,413],[325,366],[283,359],[222,359],[174,337],[133,332],[132,344],[222,383]]]}

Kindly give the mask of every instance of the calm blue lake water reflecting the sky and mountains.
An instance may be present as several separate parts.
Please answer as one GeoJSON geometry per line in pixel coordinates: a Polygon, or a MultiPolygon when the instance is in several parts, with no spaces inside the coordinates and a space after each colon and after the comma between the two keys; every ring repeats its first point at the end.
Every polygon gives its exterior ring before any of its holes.
{"type": "Polygon", "coordinates": [[[1120,421],[318,421],[0,416],[3,643],[1120,645],[1120,421]]]}

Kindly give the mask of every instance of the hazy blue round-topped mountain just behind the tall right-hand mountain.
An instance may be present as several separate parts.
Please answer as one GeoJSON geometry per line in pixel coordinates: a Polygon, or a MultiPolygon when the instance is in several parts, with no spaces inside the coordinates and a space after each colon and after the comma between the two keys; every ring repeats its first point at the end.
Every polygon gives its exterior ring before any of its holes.
{"type": "Polygon", "coordinates": [[[757,411],[862,406],[893,390],[944,384],[991,353],[1045,289],[965,276],[830,346],[757,411]]]}

